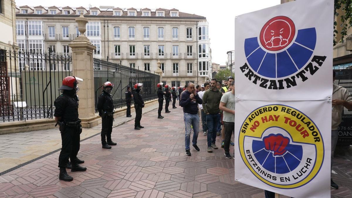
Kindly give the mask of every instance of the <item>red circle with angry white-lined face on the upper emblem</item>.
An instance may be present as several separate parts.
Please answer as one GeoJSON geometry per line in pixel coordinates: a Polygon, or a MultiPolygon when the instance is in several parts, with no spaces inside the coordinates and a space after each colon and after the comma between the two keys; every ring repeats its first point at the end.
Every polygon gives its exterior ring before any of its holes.
{"type": "Polygon", "coordinates": [[[284,16],[270,19],[262,27],[259,40],[263,47],[270,51],[278,51],[287,47],[295,37],[295,24],[284,16]]]}

